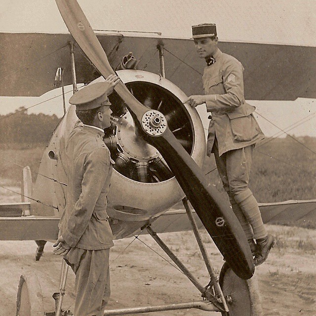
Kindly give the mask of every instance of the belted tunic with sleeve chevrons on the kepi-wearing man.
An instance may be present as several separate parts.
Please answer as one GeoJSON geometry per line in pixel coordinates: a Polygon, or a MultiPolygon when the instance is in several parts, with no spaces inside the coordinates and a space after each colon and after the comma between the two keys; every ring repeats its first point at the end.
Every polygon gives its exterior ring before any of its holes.
{"type": "Polygon", "coordinates": [[[219,155],[255,144],[264,138],[253,116],[254,106],[244,100],[243,67],[220,49],[215,63],[204,68],[203,89],[206,110],[212,113],[208,127],[207,155],[211,155],[215,135],[219,155]]]}

